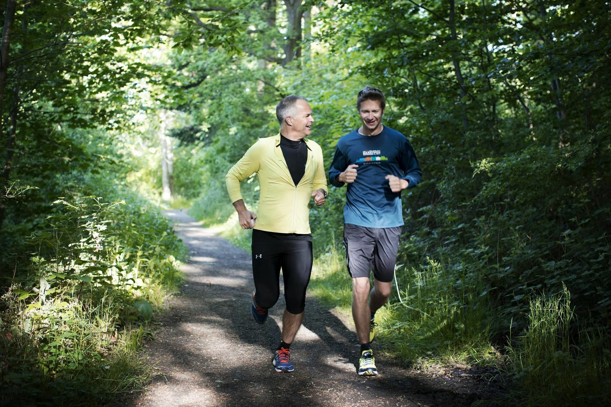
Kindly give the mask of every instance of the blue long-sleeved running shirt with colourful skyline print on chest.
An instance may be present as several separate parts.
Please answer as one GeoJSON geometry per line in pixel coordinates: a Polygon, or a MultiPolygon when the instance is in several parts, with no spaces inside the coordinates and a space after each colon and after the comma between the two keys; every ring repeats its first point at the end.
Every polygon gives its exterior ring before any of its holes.
{"type": "Polygon", "coordinates": [[[390,190],[386,175],[395,175],[413,188],[420,182],[422,171],[408,139],[397,130],[384,126],[375,136],[364,136],[357,130],[337,142],[329,180],[341,187],[337,175],[350,164],[357,164],[357,177],[348,183],[344,222],[364,227],[403,226],[401,193],[390,190]]]}

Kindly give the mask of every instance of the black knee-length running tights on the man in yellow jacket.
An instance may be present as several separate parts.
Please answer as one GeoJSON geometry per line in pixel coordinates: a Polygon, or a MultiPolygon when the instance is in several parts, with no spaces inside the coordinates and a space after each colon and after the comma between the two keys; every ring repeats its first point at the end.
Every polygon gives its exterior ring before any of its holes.
{"type": "Polygon", "coordinates": [[[254,229],[251,248],[257,305],[268,309],[276,304],[282,268],[287,311],[301,314],[305,309],[305,289],[312,274],[312,235],[254,229]]]}

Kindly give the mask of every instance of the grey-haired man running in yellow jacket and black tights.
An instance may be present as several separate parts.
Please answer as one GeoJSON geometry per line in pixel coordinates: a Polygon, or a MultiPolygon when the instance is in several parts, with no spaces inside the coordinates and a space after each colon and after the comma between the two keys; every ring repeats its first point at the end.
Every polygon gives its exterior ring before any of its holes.
{"type": "Polygon", "coordinates": [[[272,363],[276,372],[293,372],[290,346],[304,317],[305,289],[312,273],[309,202],[324,205],[327,182],[320,146],[307,139],[314,117],[302,97],[290,95],[276,106],[280,133],[259,139],[227,172],[227,191],[238,211],[240,226],[252,231],[252,316],[264,323],[280,295],[280,268],[286,309],[282,340],[272,363]],[[258,216],[247,210],[240,182],[257,173],[258,216]]]}

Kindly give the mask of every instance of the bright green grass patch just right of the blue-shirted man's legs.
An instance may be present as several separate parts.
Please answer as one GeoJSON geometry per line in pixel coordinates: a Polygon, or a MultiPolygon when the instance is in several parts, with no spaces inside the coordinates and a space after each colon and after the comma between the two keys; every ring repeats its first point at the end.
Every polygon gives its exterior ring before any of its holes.
{"type": "Polygon", "coordinates": [[[431,259],[396,273],[405,273],[399,279],[404,285],[395,287],[397,296],[381,315],[380,332],[401,361],[470,364],[491,358],[491,309],[481,279],[456,276],[431,259]]]}

